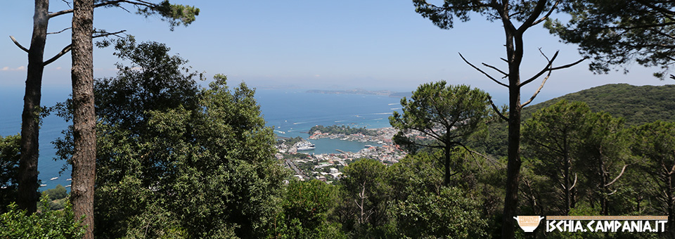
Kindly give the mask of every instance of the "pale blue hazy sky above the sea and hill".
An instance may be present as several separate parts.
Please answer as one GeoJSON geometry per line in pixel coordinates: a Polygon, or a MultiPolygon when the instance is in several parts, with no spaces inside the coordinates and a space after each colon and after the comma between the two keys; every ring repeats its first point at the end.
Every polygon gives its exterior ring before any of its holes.
{"type": "MultiPolygon", "coordinates": [[[[458,53],[480,65],[506,68],[501,23],[475,15],[470,22],[456,22],[452,30],[441,30],[418,13],[411,0],[292,0],[292,1],[172,1],[193,4],[200,15],[188,27],[169,31],[159,18],[143,18],[120,8],[100,8],[94,26],[108,31],[127,30],[137,41],[159,41],[172,53],[190,60],[194,70],[211,77],[222,73],[231,82],[245,81],[258,88],[295,86],[302,89],[389,89],[412,91],[418,84],[445,79],[452,84],[470,84],[496,96],[506,89],[494,84],[463,63],[458,53]]],[[[28,47],[34,3],[0,1],[0,87],[24,85],[27,54],[18,49],[12,35],[28,47]]],[[[52,0],[50,11],[60,11],[63,1],[52,0]]],[[[134,12],[133,7],[127,8],[134,12]]],[[[70,27],[70,16],[49,22],[49,32],[70,27]]],[[[45,58],[68,44],[70,31],[51,34],[45,58]]],[[[576,46],[565,45],[541,25],[525,36],[523,78],[546,65],[537,49],[548,56],[560,50],[554,65],[579,59],[576,46]]],[[[115,75],[117,58],[112,49],[95,49],[95,77],[115,75]]],[[[485,69],[487,72],[493,72],[485,69]]],[[[553,72],[539,101],[565,93],[610,83],[635,85],[671,84],[651,76],[655,69],[638,65],[624,75],[593,75],[588,64],[553,72]]],[[[529,98],[541,81],[523,92],[529,98]]],[[[70,54],[48,65],[45,87],[70,85],[70,54]]],[[[503,98],[502,100],[505,100],[503,98]]]]}

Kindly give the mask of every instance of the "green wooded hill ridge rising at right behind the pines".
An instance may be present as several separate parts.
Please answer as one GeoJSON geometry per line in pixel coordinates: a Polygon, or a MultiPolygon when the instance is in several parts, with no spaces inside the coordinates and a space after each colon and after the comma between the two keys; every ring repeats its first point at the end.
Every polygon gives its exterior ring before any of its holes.
{"type": "Polygon", "coordinates": [[[593,112],[605,111],[624,117],[626,124],[638,125],[656,120],[675,122],[675,85],[633,86],[605,84],[523,108],[523,119],[560,100],[583,101],[593,112]]]}

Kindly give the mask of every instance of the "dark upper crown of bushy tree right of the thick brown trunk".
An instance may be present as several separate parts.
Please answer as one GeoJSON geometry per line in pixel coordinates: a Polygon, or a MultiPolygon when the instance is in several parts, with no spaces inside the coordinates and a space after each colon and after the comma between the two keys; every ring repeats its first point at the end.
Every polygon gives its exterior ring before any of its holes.
{"type": "Polygon", "coordinates": [[[170,56],[170,50],[155,41],[137,44],[134,37],[115,41],[113,55],[129,65],[115,63],[117,76],[96,80],[96,113],[107,124],[120,124],[122,129],[140,134],[151,110],[177,105],[194,108],[198,92],[195,78],[201,75],[184,66],[188,60],[170,56]]]}

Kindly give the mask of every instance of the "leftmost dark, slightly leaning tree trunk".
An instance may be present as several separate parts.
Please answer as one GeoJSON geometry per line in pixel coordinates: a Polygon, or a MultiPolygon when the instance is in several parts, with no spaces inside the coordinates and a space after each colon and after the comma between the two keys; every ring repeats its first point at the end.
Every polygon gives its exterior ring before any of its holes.
{"type": "Polygon", "coordinates": [[[21,155],[19,160],[18,206],[27,212],[37,210],[37,162],[39,158],[39,114],[44,70],[44,44],[47,37],[49,0],[35,0],[33,34],[28,50],[28,74],[21,114],[21,155]]]}

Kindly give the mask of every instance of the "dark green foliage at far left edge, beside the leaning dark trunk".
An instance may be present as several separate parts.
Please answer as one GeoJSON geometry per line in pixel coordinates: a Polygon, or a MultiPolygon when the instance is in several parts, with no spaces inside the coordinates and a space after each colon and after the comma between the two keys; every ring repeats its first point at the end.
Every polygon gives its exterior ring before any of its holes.
{"type": "Polygon", "coordinates": [[[0,214],[14,202],[18,183],[21,137],[0,136],[0,214]]]}

